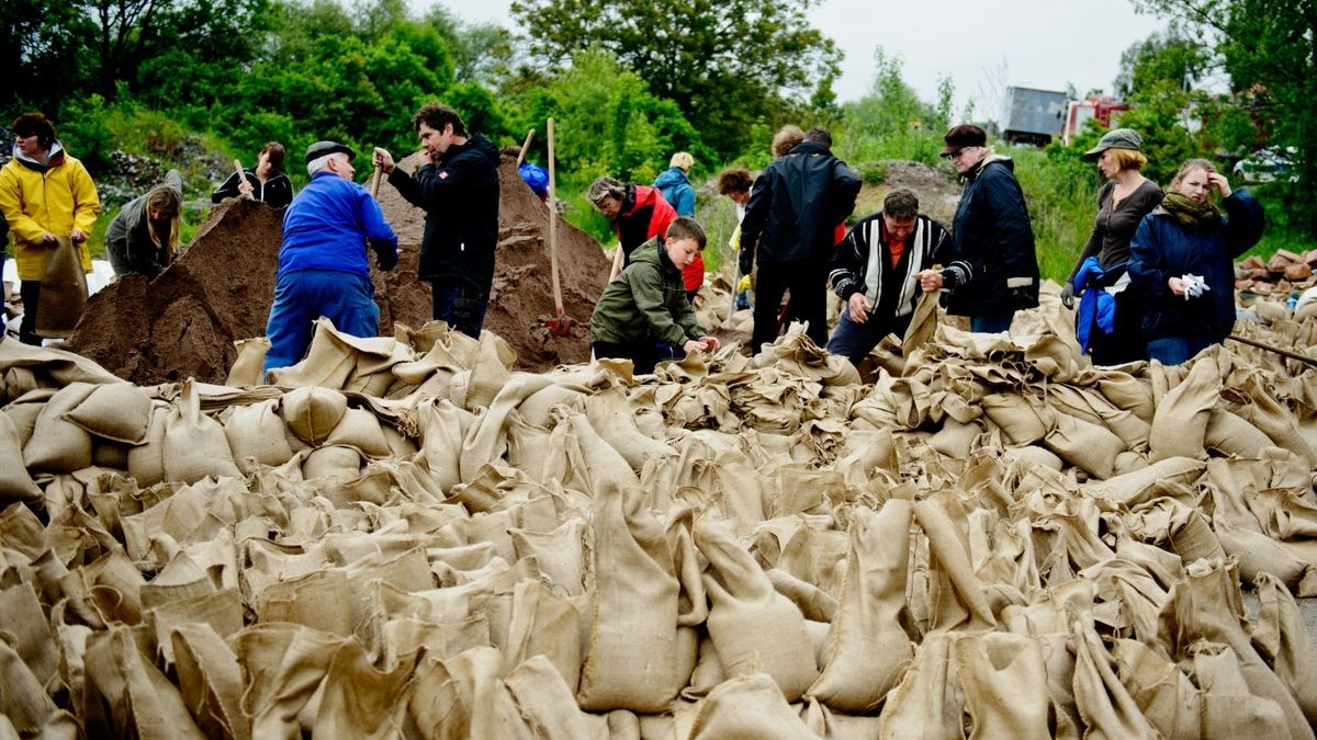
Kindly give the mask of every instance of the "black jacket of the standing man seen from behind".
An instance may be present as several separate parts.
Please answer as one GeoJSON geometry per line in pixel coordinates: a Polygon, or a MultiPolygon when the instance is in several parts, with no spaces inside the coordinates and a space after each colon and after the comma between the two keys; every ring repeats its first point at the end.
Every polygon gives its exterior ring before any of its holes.
{"type": "Polygon", "coordinates": [[[769,162],[755,180],[741,220],[741,267],[827,259],[834,229],[855,211],[860,176],[822,144],[806,141],[769,162]]]}

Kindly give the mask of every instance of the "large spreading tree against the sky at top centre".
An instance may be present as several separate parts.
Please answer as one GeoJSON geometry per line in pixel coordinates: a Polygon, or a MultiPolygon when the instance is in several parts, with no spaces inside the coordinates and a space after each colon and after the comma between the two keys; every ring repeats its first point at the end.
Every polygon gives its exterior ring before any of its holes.
{"type": "MultiPolygon", "coordinates": [[[[782,92],[813,93],[842,53],[811,28],[819,0],[514,0],[532,59],[556,67],[598,43],[657,97],[674,100],[701,138],[732,157],[782,92]]],[[[822,99],[826,99],[826,91],[822,99]]]]}

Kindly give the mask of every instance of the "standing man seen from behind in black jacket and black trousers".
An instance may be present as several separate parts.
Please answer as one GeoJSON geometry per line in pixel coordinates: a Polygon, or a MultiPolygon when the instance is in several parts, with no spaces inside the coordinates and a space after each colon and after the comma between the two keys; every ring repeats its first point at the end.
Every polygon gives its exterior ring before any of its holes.
{"type": "Polygon", "coordinates": [[[793,321],[807,321],[814,344],[827,344],[827,267],[834,229],[855,209],[860,176],[830,151],[832,136],[811,129],[786,157],[764,169],[741,220],[740,270],[759,259],[755,332],[759,350],[777,337],[777,311],[792,291],[793,321]]]}

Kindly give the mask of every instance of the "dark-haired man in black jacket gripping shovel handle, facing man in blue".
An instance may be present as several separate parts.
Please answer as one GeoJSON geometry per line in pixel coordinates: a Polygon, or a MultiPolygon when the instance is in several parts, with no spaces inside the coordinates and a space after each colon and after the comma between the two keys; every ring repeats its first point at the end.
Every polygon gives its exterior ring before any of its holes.
{"type": "Polygon", "coordinates": [[[433,288],[435,319],[479,337],[498,246],[498,147],[481,134],[469,137],[461,116],[440,103],[421,105],[412,125],[429,161],[411,176],[375,149],[375,166],[425,209],[416,273],[433,288]]]}

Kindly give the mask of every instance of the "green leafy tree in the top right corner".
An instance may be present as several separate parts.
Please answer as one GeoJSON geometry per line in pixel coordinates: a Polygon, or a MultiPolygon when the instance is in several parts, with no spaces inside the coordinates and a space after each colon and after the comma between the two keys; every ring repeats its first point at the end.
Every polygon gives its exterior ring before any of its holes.
{"type": "MultiPolygon", "coordinates": [[[[1306,187],[1317,182],[1317,9],[1312,0],[1137,0],[1185,34],[1214,40],[1214,59],[1271,144],[1292,146],[1306,187]]],[[[1317,233],[1317,203],[1295,203],[1296,221],[1317,233]]]]}

